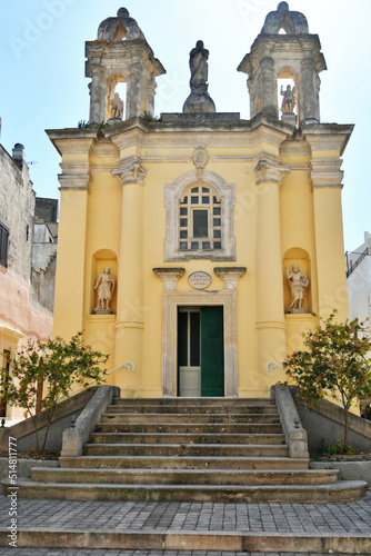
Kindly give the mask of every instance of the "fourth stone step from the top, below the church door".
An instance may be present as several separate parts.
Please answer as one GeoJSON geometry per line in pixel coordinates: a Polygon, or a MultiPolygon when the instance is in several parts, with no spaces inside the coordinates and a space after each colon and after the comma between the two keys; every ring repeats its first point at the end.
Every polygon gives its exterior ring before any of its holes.
{"type": "Polygon", "coordinates": [[[269,435],[282,433],[281,424],[210,424],[210,423],[98,423],[97,433],[131,433],[131,434],[173,434],[173,435],[269,435]]]}

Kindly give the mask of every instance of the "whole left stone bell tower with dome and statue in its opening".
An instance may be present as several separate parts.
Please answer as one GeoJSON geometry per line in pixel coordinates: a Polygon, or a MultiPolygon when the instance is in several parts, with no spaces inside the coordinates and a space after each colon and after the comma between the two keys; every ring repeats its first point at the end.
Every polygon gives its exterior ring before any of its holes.
{"type": "Polygon", "coordinates": [[[90,88],[90,123],[118,121],[154,112],[156,78],[166,73],[137,21],[120,8],[101,22],[96,41],[86,43],[86,77],[90,88]],[[116,92],[127,83],[127,98],[116,92]]]}

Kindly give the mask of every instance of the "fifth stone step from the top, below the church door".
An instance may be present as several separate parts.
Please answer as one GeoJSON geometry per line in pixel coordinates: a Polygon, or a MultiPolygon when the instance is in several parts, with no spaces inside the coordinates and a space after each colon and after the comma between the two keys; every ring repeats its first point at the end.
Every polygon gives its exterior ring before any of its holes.
{"type": "Polygon", "coordinates": [[[284,444],[283,434],[92,433],[98,444],[284,444]]]}

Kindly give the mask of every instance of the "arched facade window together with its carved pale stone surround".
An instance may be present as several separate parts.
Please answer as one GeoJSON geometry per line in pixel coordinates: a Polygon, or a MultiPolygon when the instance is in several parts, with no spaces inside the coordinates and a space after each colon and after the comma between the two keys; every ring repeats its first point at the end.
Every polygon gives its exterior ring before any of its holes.
{"type": "Polygon", "coordinates": [[[235,260],[234,185],[204,170],[166,186],[164,260],[235,260]]]}

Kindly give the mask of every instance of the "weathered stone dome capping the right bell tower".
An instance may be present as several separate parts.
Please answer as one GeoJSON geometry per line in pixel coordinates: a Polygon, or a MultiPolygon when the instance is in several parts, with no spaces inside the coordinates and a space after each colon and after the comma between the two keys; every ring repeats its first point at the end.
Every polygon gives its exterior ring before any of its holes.
{"type": "Polygon", "coordinates": [[[280,2],[277,11],[268,13],[261,34],[278,34],[281,29],[288,34],[309,33],[305,16],[300,11],[290,11],[288,2],[280,2]]]}

